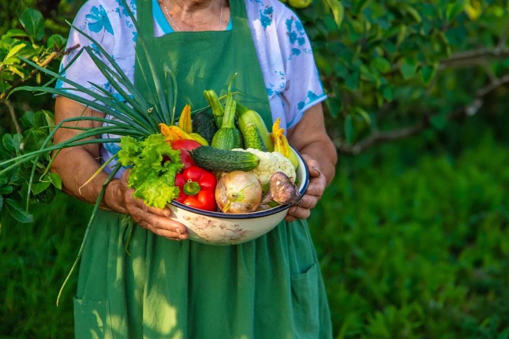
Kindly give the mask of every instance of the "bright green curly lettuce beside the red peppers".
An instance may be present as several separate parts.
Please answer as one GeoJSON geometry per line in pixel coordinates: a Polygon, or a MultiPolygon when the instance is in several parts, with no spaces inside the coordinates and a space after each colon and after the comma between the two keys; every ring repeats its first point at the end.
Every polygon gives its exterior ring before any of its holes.
{"type": "Polygon", "coordinates": [[[162,134],[153,134],[144,140],[124,136],[120,143],[119,162],[123,166],[132,165],[128,186],[134,188],[133,196],[143,199],[151,207],[164,208],[179,194],[175,187],[175,175],[184,165],[180,151],[164,141],[162,134]],[[163,155],[171,162],[162,165],[163,155]]]}

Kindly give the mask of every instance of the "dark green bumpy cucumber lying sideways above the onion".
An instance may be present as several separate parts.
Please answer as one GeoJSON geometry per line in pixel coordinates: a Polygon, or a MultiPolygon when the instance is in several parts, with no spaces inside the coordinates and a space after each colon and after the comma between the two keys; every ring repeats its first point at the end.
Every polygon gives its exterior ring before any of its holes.
{"type": "Polygon", "coordinates": [[[220,150],[201,146],[191,151],[196,166],[212,172],[249,172],[260,164],[260,158],[249,152],[220,150]]]}

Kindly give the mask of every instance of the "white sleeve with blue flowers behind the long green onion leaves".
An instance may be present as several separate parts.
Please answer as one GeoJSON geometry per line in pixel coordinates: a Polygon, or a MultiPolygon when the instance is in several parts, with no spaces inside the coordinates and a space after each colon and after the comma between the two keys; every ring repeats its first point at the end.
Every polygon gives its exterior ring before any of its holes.
{"type": "MultiPolygon", "coordinates": [[[[115,46],[114,25],[112,24],[112,21],[110,21],[109,17],[109,15],[112,14],[116,15],[116,13],[111,11],[109,8],[105,8],[102,1],[89,0],[81,7],[73,22],[75,27],[97,41],[109,55],[112,54],[115,46]]],[[[60,72],[62,72],[64,68],[69,65],[69,63],[71,63],[77,53],[85,46],[91,46],[94,50],[94,53],[104,63],[106,63],[106,65],[110,66],[108,60],[104,57],[104,55],[102,55],[98,47],[92,43],[92,41],[84,37],[76,30],[71,29],[66,48],[75,45],[79,45],[79,47],[74,49],[69,55],[64,56],[62,59],[60,72]]],[[[110,68],[112,67],[110,66],[110,68]]],[[[100,86],[110,93],[114,93],[114,89],[111,87],[108,80],[104,77],[104,75],[92,61],[92,58],[90,58],[90,56],[84,50],[81,52],[81,55],[79,55],[78,58],[70,64],[69,68],[62,73],[62,76],[80,84],[87,89],[90,89],[91,91],[95,91],[100,95],[103,94],[97,90],[97,86],[100,86]]],[[[62,80],[58,80],[56,82],[55,88],[66,89],[72,88],[72,86],[62,80]]],[[[85,99],[93,100],[93,98],[89,95],[77,91],[72,91],[71,93],[85,99]]]]}

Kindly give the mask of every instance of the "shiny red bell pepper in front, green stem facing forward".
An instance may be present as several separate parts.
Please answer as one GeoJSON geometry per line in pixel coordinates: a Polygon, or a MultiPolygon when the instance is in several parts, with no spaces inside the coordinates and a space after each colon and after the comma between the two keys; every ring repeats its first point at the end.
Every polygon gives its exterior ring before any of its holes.
{"type": "Polygon", "coordinates": [[[188,167],[175,176],[175,186],[180,194],[175,201],[199,210],[215,212],[216,176],[198,166],[188,167]]]}

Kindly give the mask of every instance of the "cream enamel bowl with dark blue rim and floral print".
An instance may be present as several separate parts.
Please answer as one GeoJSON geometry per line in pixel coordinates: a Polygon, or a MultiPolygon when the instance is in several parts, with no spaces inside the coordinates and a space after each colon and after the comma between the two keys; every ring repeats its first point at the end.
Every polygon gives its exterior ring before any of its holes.
{"type": "MultiPolygon", "coordinates": [[[[309,183],[309,172],[302,156],[294,149],[299,159],[297,179],[300,196],[304,195],[309,183]]],[[[226,214],[197,210],[173,201],[168,204],[172,210],[171,219],[185,225],[188,239],[209,245],[238,245],[259,238],[281,222],[292,205],[281,205],[270,210],[226,214]]]]}

